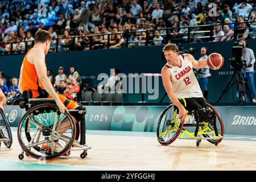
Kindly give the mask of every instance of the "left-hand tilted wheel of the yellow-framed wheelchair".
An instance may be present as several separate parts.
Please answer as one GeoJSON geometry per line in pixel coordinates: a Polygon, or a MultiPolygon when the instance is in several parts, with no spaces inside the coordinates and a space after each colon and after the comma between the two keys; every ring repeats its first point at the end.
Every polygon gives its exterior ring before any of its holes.
{"type": "Polygon", "coordinates": [[[158,142],[167,146],[174,142],[183,128],[184,120],[177,118],[178,109],[173,105],[169,105],[160,115],[158,125],[156,127],[156,135],[158,142]]]}

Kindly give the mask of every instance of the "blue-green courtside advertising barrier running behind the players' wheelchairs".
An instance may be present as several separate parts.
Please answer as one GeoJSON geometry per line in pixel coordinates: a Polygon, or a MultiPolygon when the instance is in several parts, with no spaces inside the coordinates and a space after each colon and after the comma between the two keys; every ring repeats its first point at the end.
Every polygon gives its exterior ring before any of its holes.
{"type": "MultiPolygon", "coordinates": [[[[86,106],[86,129],[155,132],[165,106],[86,106]]],[[[256,135],[255,106],[215,106],[225,134],[256,135]]],[[[24,110],[5,106],[11,127],[17,127],[24,110]]]]}

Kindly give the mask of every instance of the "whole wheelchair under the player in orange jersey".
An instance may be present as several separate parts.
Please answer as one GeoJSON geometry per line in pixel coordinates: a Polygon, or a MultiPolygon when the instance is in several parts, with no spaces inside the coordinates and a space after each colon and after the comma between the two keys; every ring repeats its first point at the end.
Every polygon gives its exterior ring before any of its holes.
{"type": "Polygon", "coordinates": [[[63,114],[55,100],[31,96],[30,92],[23,93],[19,104],[26,109],[18,124],[18,141],[22,147],[19,159],[22,160],[25,153],[35,159],[53,160],[75,150],[82,150],[80,157],[85,158],[91,148],[85,144],[85,119],[79,125],[71,114],[86,114],[86,111],[71,109],[63,114]]]}

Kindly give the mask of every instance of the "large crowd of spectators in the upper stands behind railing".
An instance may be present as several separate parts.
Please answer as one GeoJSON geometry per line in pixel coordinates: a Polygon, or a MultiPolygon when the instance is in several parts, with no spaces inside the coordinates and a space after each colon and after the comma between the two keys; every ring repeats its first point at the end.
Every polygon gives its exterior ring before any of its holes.
{"type": "MultiPolygon", "coordinates": [[[[256,13],[252,5],[251,0],[2,0],[0,52],[24,53],[32,46],[38,28],[59,38],[52,40],[50,51],[56,51],[56,47],[59,51],[106,48],[108,37],[109,48],[183,43],[187,27],[205,24],[216,24],[210,40],[213,42],[255,38],[256,13]],[[214,16],[209,15],[211,2],[217,6],[214,16]],[[40,3],[46,7],[43,11],[40,3]],[[234,24],[223,25],[237,22],[237,34],[234,24]],[[85,35],[92,36],[81,37],[85,35]]],[[[191,42],[209,41],[205,36],[210,28],[192,28],[191,42]],[[195,33],[199,30],[205,32],[195,33]]]]}

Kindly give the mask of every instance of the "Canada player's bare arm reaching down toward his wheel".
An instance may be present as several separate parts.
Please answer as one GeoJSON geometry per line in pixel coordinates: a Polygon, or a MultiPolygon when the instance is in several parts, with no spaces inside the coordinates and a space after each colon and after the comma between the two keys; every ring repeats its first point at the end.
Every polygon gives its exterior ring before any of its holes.
{"type": "Polygon", "coordinates": [[[166,93],[168,94],[168,97],[170,100],[174,103],[175,106],[179,109],[179,117],[182,117],[184,119],[186,117],[187,111],[185,110],[185,107],[180,103],[177,96],[175,96],[173,89],[172,89],[172,82],[171,82],[171,73],[168,70],[167,67],[163,67],[161,71],[161,76],[163,80],[164,89],[166,89],[166,93]]]}

